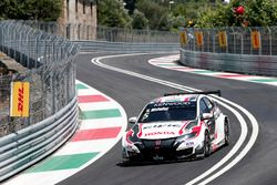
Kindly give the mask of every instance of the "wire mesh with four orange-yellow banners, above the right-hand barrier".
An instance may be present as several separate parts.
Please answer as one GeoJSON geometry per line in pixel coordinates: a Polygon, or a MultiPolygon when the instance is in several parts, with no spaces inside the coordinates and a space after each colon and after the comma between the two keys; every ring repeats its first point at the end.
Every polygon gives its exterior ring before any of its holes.
{"type": "Polygon", "coordinates": [[[277,55],[277,27],[182,28],[181,44],[187,51],[277,55]]]}

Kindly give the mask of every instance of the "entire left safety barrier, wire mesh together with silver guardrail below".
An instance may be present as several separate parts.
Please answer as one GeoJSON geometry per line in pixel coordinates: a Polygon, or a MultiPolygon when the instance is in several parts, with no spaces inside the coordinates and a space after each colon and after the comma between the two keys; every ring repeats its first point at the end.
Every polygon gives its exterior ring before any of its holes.
{"type": "Polygon", "coordinates": [[[7,54],[0,58],[0,66],[14,66],[11,73],[0,75],[3,181],[52,153],[75,131],[79,113],[74,59],[79,45],[21,21],[0,21],[0,51],[7,54]],[[30,84],[28,117],[10,116],[10,83],[16,81],[30,84]]]}

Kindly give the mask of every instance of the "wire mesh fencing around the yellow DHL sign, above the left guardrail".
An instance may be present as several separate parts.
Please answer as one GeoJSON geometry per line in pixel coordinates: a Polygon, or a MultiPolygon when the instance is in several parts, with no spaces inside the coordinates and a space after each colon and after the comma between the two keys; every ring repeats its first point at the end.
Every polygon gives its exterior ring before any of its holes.
{"type": "Polygon", "coordinates": [[[24,69],[0,75],[0,136],[55,114],[75,96],[79,45],[22,21],[0,21],[0,51],[24,69]],[[30,82],[29,117],[9,116],[12,81],[30,82]]]}

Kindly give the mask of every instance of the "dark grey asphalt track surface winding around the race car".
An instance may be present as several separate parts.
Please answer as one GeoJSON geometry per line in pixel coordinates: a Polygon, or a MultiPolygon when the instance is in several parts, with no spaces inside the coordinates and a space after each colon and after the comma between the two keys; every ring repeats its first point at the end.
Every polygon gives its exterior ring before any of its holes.
{"type": "MultiPolygon", "coordinates": [[[[91,63],[91,59],[106,53],[81,54],[76,59],[78,79],[102,91],[117,101],[129,116],[140,113],[151,99],[165,92],[178,90],[154,82],[145,81],[123,73],[102,69],[91,63]]],[[[248,110],[259,124],[259,135],[253,148],[229,171],[212,181],[215,185],[267,185],[277,183],[277,88],[266,84],[216,79],[184,72],[177,72],[153,66],[147,60],[168,54],[148,54],[121,56],[102,60],[102,63],[134,71],[140,74],[166,80],[177,84],[199,90],[222,90],[223,96],[248,110]]],[[[61,182],[63,185],[182,185],[199,176],[218,163],[233,148],[240,134],[240,126],[235,115],[228,110],[222,110],[229,115],[232,122],[232,144],[223,147],[208,158],[155,164],[122,166],[121,143],[119,142],[106,155],[61,182]]],[[[253,127],[244,116],[248,132],[253,127]]],[[[247,138],[250,134],[247,135],[247,138]]],[[[246,142],[243,146],[246,145],[246,142]]],[[[239,152],[237,153],[239,154],[239,152]]],[[[232,160],[234,160],[234,156],[232,160]]],[[[222,166],[220,168],[223,168],[222,166]]],[[[219,169],[220,169],[219,168],[219,169]]],[[[219,171],[218,169],[218,171],[219,171]]]]}

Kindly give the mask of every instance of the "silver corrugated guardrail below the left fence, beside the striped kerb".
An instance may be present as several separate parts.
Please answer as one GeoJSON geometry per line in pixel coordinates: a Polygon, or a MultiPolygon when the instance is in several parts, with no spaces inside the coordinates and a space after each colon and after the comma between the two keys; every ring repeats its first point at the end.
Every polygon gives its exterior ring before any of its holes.
{"type": "Polygon", "coordinates": [[[0,138],[0,182],[31,166],[59,148],[75,132],[78,104],[74,97],[59,113],[0,138]]]}

